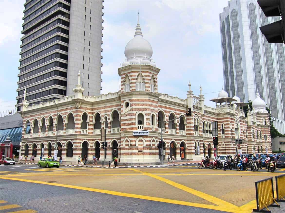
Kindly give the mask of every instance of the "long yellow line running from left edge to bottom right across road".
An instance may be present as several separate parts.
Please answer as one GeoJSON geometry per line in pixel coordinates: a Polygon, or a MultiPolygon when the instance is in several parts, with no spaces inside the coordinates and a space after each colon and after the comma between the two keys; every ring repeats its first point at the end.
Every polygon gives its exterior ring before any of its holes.
{"type": "MultiPolygon", "coordinates": [[[[116,196],[122,196],[122,197],[144,199],[144,200],[149,200],[149,201],[158,201],[158,202],[172,203],[172,204],[185,205],[185,206],[193,206],[193,207],[199,207],[199,208],[215,209],[218,211],[225,211],[225,212],[238,212],[237,208],[231,209],[229,207],[214,206],[214,205],[207,205],[207,204],[200,204],[200,203],[192,203],[192,202],[171,200],[171,199],[165,199],[165,198],[160,198],[160,197],[151,197],[151,196],[145,196],[145,195],[129,194],[129,193],[110,191],[110,190],[105,190],[105,189],[94,189],[94,188],[81,187],[81,186],[65,185],[65,184],[61,184],[61,183],[46,183],[46,182],[42,182],[42,181],[34,181],[34,180],[19,179],[19,178],[9,178],[9,177],[2,177],[2,176],[0,177],[0,179],[17,180],[17,181],[24,181],[24,182],[29,182],[29,183],[39,183],[39,184],[45,184],[45,185],[52,185],[52,186],[66,187],[66,188],[79,189],[79,190],[85,190],[85,191],[105,193],[105,194],[109,194],[109,195],[116,195],[116,196]]],[[[235,207],[237,207],[237,206],[235,206],[235,207]]]]}

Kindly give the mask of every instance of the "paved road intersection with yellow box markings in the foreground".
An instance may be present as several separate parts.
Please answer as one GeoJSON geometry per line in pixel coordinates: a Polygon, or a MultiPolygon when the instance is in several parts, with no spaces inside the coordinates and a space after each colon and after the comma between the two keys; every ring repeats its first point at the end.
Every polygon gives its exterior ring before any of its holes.
{"type": "Polygon", "coordinates": [[[269,173],[198,169],[196,165],[161,168],[1,165],[0,212],[251,212],[256,208],[254,181],[284,173],[284,168],[269,173]],[[3,206],[11,208],[1,209],[3,206]]]}

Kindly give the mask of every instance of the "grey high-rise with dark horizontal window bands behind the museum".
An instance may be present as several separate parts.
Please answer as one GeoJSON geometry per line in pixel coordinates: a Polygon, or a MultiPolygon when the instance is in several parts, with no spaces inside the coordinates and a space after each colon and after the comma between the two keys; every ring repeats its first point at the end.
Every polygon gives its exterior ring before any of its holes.
{"type": "Polygon", "coordinates": [[[104,0],[26,0],[17,110],[73,94],[78,70],[84,95],[100,95],[104,0]]]}

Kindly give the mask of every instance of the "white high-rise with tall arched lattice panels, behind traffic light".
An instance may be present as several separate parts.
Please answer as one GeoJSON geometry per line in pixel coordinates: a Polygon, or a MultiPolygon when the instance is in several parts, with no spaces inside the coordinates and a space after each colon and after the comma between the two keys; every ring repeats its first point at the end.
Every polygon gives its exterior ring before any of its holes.
{"type": "Polygon", "coordinates": [[[280,17],[266,17],[256,0],[231,0],[219,18],[225,90],[243,102],[258,90],[271,115],[284,120],[285,46],[268,43],[259,29],[280,17]]]}

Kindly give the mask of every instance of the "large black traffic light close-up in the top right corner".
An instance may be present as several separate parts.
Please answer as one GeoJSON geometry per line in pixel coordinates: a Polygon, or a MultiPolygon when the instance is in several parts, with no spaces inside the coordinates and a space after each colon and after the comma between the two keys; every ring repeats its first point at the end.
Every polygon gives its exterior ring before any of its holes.
{"type": "Polygon", "coordinates": [[[265,16],[282,16],[282,19],[260,27],[261,33],[269,43],[285,44],[285,1],[284,0],[258,0],[265,16]]]}

